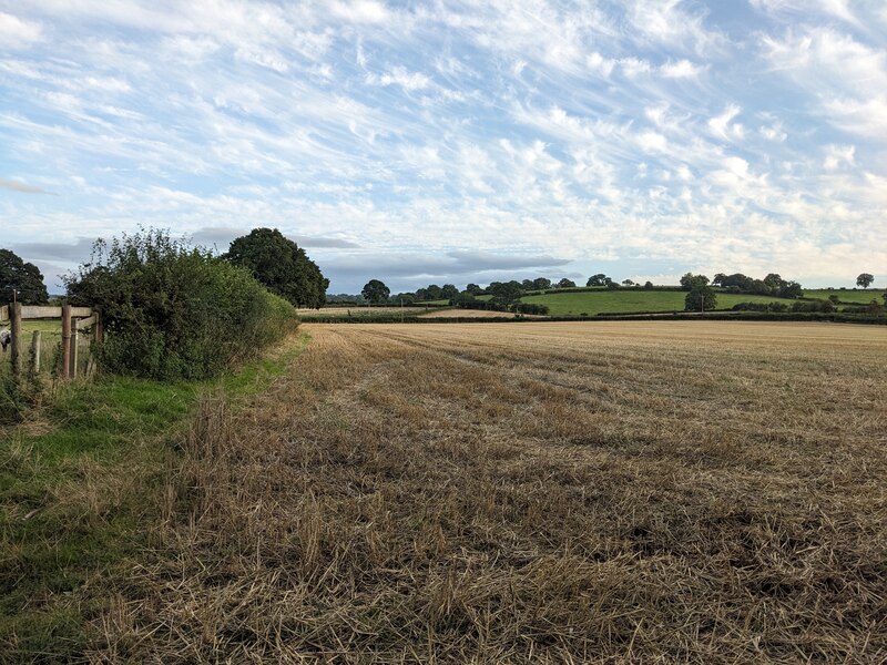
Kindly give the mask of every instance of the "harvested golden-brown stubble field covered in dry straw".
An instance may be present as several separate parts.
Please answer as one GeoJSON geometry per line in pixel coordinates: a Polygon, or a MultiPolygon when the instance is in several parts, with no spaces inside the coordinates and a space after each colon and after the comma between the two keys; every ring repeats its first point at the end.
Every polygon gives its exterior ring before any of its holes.
{"type": "Polygon", "coordinates": [[[887,658],[887,337],[309,326],[202,405],[95,659],[887,658]]]}

